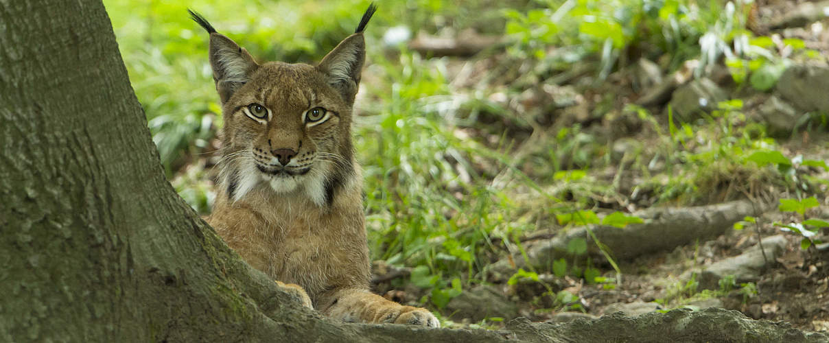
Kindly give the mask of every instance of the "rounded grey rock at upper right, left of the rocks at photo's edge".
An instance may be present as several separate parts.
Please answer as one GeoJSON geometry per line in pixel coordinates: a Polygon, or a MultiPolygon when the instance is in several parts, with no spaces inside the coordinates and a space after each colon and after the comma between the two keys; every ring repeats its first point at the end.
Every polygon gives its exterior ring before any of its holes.
{"type": "Polygon", "coordinates": [[[702,78],[677,88],[671,95],[670,105],[674,118],[690,121],[701,112],[710,113],[717,109],[717,104],[726,99],[728,99],[728,94],[725,90],[716,85],[714,81],[702,78]]]}

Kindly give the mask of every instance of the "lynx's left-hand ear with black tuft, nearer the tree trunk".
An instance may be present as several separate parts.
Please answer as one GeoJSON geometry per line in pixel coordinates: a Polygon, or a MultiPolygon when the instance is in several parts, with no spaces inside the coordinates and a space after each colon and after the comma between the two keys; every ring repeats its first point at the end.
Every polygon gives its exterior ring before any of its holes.
{"type": "Polygon", "coordinates": [[[213,68],[213,80],[216,91],[224,104],[230,95],[250,80],[250,75],[259,68],[253,56],[235,41],[216,32],[209,22],[196,12],[187,10],[194,21],[210,33],[210,65],[213,68]]]}

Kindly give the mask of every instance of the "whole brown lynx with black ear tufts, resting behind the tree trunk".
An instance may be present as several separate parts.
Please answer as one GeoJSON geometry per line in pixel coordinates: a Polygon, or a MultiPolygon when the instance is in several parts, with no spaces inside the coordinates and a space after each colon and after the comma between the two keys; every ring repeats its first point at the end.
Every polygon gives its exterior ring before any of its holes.
{"type": "Polygon", "coordinates": [[[316,66],[259,64],[191,12],[210,33],[225,121],[208,222],[252,267],[327,316],[434,327],[439,321],[431,312],[368,292],[351,116],[366,55],[362,31],[375,9],[316,66]]]}

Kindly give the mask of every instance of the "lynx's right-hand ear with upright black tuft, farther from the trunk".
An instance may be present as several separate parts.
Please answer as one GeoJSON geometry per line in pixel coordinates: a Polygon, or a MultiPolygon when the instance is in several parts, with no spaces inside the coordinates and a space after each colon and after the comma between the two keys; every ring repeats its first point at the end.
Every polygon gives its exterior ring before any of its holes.
{"type": "Polygon", "coordinates": [[[337,89],[342,99],[349,103],[354,102],[357,86],[360,85],[360,72],[366,60],[366,39],[362,31],[376,10],[375,4],[371,3],[354,34],[342,40],[317,66],[328,76],[328,85],[337,89]]]}

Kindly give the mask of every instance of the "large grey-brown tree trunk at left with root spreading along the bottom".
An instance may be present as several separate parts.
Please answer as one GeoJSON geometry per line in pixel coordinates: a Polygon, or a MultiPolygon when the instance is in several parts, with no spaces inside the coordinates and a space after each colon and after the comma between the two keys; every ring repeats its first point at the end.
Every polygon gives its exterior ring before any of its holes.
{"type": "Polygon", "coordinates": [[[0,0],[0,146],[0,341],[569,341],[593,325],[366,326],[292,302],[164,179],[99,0],[0,0]]]}

